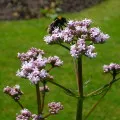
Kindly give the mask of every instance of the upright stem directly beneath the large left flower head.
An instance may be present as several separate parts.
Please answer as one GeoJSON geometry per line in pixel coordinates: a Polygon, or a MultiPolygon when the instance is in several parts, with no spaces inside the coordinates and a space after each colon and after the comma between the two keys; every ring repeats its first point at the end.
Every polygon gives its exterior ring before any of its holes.
{"type": "Polygon", "coordinates": [[[41,114],[41,98],[40,98],[39,83],[36,84],[36,94],[37,94],[38,115],[40,115],[41,114]]]}

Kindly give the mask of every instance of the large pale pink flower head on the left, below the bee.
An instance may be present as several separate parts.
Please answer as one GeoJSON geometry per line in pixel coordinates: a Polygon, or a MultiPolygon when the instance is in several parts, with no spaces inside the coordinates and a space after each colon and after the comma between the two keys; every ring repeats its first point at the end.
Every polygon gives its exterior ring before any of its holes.
{"type": "Polygon", "coordinates": [[[45,79],[52,79],[53,77],[45,69],[46,65],[51,64],[52,67],[59,67],[63,61],[57,56],[46,58],[43,55],[44,51],[36,48],[31,48],[26,53],[19,53],[18,58],[22,65],[16,75],[29,79],[33,84],[45,79]]]}

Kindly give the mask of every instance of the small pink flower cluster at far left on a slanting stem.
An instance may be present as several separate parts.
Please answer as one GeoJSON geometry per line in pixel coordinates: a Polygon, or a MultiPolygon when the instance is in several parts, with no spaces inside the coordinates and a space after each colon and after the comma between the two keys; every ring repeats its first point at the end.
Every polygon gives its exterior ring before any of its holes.
{"type": "Polygon", "coordinates": [[[19,85],[15,85],[14,87],[7,86],[3,89],[3,92],[10,95],[15,100],[19,100],[21,95],[23,95],[19,85]]]}

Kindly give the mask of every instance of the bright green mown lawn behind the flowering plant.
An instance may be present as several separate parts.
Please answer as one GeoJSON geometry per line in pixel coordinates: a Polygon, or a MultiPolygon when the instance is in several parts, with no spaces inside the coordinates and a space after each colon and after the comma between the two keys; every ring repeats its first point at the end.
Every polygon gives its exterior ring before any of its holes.
{"type": "MultiPolygon", "coordinates": [[[[98,55],[95,59],[84,58],[83,79],[90,80],[85,87],[85,93],[90,92],[110,80],[110,76],[103,74],[102,66],[110,62],[120,63],[120,0],[105,0],[99,5],[88,8],[78,13],[63,14],[68,19],[90,18],[94,26],[99,26],[102,31],[111,37],[105,43],[96,45],[98,55]]],[[[36,113],[35,87],[29,81],[16,77],[16,71],[20,68],[20,61],[17,59],[18,52],[27,51],[31,47],[45,50],[46,55],[58,55],[64,65],[51,72],[55,81],[76,90],[76,80],[72,58],[68,51],[60,46],[46,45],[43,37],[47,34],[46,28],[52,20],[47,18],[1,21],[0,22],[0,119],[14,120],[16,113],[19,113],[19,106],[7,95],[3,94],[3,88],[7,85],[20,84],[24,95],[21,99],[26,108],[36,113]]],[[[48,120],[75,120],[76,99],[67,96],[63,90],[49,84],[50,92],[46,97],[47,103],[60,101],[64,110],[48,120]]],[[[113,85],[111,91],[97,106],[94,113],[88,120],[120,120],[120,82],[113,85]]],[[[84,104],[84,116],[99,97],[87,99],[84,104]]]]}

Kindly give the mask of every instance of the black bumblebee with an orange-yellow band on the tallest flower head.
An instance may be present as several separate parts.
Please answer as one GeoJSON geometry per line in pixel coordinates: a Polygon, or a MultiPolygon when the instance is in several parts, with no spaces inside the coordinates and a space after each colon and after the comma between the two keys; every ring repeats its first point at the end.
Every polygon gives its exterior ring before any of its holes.
{"type": "Polygon", "coordinates": [[[52,34],[52,31],[54,31],[56,27],[58,27],[59,29],[63,29],[63,27],[66,26],[66,23],[67,23],[66,18],[62,16],[56,17],[54,21],[49,25],[48,33],[52,34]]]}

